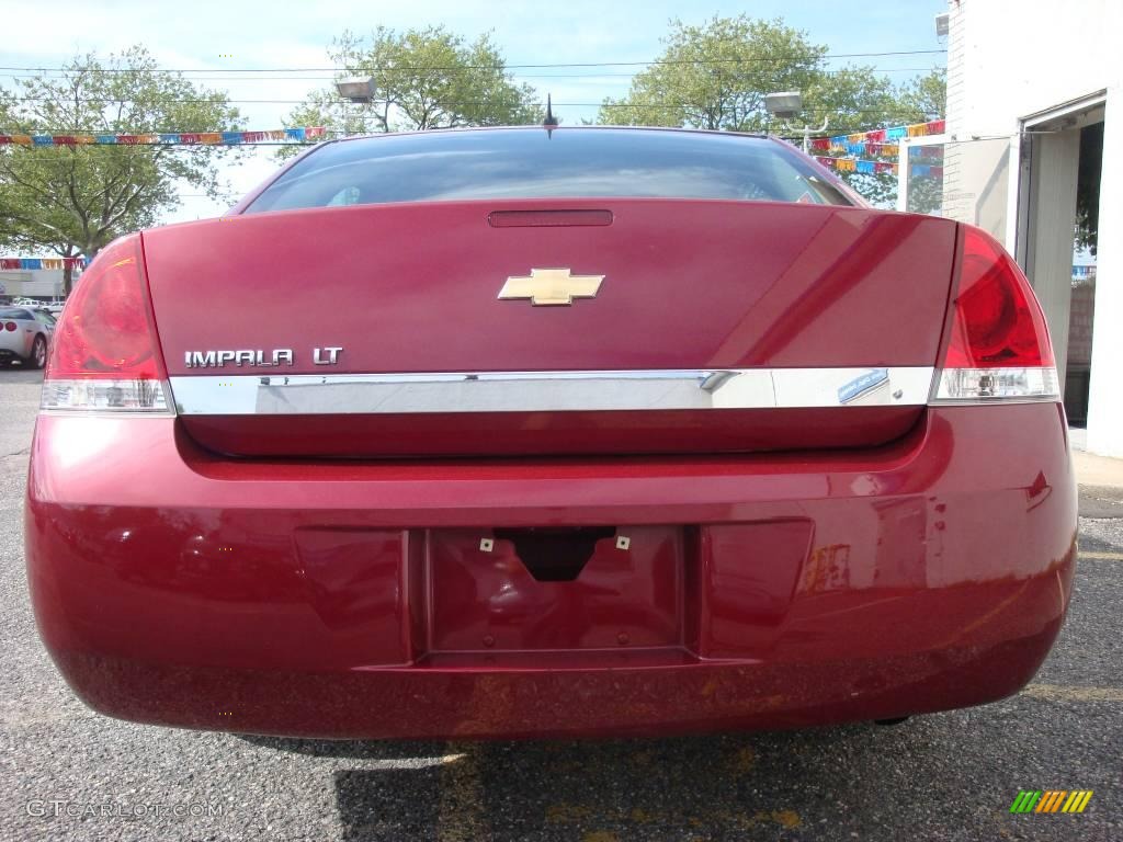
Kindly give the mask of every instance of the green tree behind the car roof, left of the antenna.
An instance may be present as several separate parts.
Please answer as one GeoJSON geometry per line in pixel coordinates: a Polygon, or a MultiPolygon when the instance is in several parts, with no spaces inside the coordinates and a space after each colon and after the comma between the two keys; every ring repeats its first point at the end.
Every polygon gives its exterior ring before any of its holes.
{"type": "MultiPolygon", "coordinates": [[[[374,80],[371,102],[344,102],[335,86],[314,91],[289,115],[290,125],[365,134],[510,126],[541,119],[535,89],[512,81],[486,34],[467,44],[442,26],[403,33],[380,26],[369,43],[345,31],[328,56],[344,67],[337,79],[374,80]]],[[[292,149],[279,152],[281,157],[291,154],[292,149]]]]}

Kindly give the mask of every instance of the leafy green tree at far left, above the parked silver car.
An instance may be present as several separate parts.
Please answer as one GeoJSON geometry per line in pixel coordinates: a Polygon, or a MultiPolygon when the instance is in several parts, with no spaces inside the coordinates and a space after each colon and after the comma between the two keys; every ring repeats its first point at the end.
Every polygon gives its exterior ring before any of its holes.
{"type": "MultiPolygon", "coordinates": [[[[226,94],[161,71],[144,47],[0,89],[0,126],[12,134],[228,131],[226,94]]],[[[172,145],[0,146],[0,245],[93,257],[115,237],[155,225],[179,205],[176,181],[223,198],[216,159],[236,148],[172,145]]],[[[65,271],[70,292],[72,277],[65,271]]]]}

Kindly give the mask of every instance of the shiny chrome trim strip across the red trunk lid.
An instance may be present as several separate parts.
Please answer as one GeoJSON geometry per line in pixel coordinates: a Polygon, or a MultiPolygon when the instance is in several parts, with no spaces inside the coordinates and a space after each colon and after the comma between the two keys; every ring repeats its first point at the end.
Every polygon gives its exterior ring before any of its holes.
{"type": "Polygon", "coordinates": [[[184,415],[919,406],[934,369],[733,368],[172,377],[184,415]]]}

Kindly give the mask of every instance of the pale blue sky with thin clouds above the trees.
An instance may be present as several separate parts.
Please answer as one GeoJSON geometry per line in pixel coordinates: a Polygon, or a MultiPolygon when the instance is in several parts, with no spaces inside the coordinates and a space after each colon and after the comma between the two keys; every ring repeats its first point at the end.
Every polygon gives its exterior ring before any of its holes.
{"type": "MultiPolygon", "coordinates": [[[[377,25],[405,29],[444,24],[468,40],[491,31],[508,64],[645,62],[661,49],[668,21],[701,24],[714,15],[741,12],[783,18],[832,54],[942,49],[934,17],[947,0],[838,3],[810,0],[755,2],[672,2],[668,0],[564,0],[557,3],[502,0],[0,0],[0,85],[10,85],[10,67],[57,67],[75,54],[107,54],[144,44],[163,67],[191,73],[209,88],[226,90],[246,117],[246,129],[281,128],[282,118],[311,90],[327,86],[330,73],[234,73],[235,68],[321,68],[326,48],[344,30],[371,31],[377,25]],[[225,73],[223,73],[225,71],[225,73]],[[285,102],[252,102],[284,100],[285,102]]],[[[838,60],[871,64],[895,82],[943,66],[940,54],[838,60]]],[[[549,68],[515,73],[517,82],[537,88],[555,102],[590,103],[555,109],[565,122],[592,118],[605,97],[627,92],[634,68],[549,68]]],[[[26,72],[26,71],[24,71],[26,72]]],[[[185,130],[193,127],[183,127],[185,130]]],[[[3,127],[0,127],[0,131],[3,127]]],[[[221,176],[232,196],[264,181],[279,166],[271,147],[256,147],[221,176]]],[[[184,185],[182,207],[165,222],[219,216],[216,203],[184,185]]]]}

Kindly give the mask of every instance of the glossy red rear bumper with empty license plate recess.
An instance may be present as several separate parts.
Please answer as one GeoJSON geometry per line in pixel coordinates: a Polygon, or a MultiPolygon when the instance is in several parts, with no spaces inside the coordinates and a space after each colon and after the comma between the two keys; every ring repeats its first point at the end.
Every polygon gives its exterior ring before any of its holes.
{"type": "Polygon", "coordinates": [[[216,459],[168,419],[40,417],[28,577],[75,692],[143,722],[444,738],[891,717],[1001,698],[1044,659],[1074,571],[1065,437],[1057,404],[958,406],[813,461],[301,465],[216,459]],[[574,583],[478,549],[544,525],[632,546],[599,543],[574,583]]]}

